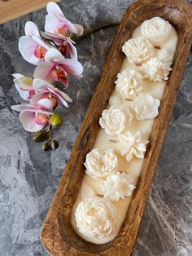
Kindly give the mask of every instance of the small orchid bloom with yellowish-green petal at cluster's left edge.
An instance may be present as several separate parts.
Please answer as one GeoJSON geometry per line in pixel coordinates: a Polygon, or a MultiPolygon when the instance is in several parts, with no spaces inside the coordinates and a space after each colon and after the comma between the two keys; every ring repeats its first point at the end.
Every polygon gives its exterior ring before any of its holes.
{"type": "Polygon", "coordinates": [[[14,73],[12,76],[15,77],[13,82],[15,82],[15,87],[19,91],[21,98],[24,100],[32,99],[33,95],[36,94],[32,85],[33,78],[24,77],[20,73],[14,73]]]}

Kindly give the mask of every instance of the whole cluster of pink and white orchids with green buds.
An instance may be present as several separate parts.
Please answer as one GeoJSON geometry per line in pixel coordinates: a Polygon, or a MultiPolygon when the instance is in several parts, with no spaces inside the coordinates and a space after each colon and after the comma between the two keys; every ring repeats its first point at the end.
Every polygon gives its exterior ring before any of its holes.
{"type": "Polygon", "coordinates": [[[25,130],[35,132],[36,141],[47,140],[44,150],[58,148],[52,139],[52,126],[59,126],[62,117],[55,113],[58,104],[68,108],[72,99],[63,90],[68,87],[69,77],[82,77],[83,67],[78,61],[72,36],[80,37],[84,29],[80,24],[72,24],[55,2],[47,4],[45,32],[39,32],[32,21],[25,24],[25,36],[19,41],[19,49],[24,60],[36,65],[33,77],[13,74],[15,87],[28,103],[11,108],[20,112],[20,122],[25,130]]]}

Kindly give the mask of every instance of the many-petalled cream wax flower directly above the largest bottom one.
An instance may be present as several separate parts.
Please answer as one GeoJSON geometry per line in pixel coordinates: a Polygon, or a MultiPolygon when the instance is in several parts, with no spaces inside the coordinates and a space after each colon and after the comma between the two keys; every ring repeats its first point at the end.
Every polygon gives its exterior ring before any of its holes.
{"type": "Polygon", "coordinates": [[[133,185],[133,178],[125,172],[112,174],[101,186],[104,198],[109,198],[111,201],[119,201],[125,196],[131,196],[134,188],[136,187],[133,185]]]}

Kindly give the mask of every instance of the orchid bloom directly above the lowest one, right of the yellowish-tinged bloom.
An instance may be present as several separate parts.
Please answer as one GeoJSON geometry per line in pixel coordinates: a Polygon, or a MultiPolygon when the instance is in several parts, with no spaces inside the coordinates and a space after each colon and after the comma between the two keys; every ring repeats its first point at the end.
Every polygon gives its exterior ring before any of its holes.
{"type": "Polygon", "coordinates": [[[57,106],[59,100],[61,104],[68,108],[66,101],[72,102],[72,99],[66,93],[40,78],[34,79],[33,88],[37,92],[37,95],[34,95],[31,99],[33,105],[51,109],[57,106]]]}

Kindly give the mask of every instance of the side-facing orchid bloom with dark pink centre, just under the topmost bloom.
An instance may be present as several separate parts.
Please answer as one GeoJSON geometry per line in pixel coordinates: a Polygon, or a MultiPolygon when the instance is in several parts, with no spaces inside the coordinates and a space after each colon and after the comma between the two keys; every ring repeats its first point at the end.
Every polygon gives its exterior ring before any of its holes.
{"type": "Polygon", "coordinates": [[[62,53],[63,56],[70,55],[72,59],[77,60],[77,51],[76,47],[73,45],[75,42],[72,39],[64,37],[58,33],[50,33],[50,32],[41,32],[41,35],[46,38],[50,39],[59,45],[59,51],[62,53]]]}

